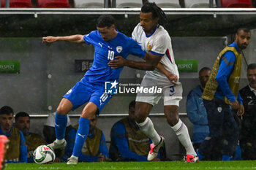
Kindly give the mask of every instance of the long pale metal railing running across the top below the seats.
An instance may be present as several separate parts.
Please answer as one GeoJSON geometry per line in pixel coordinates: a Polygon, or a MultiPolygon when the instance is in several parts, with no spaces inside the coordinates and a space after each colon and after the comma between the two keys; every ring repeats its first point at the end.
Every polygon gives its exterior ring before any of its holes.
{"type": "MultiPolygon", "coordinates": [[[[255,15],[256,8],[164,8],[166,15],[255,15]]],[[[138,15],[140,8],[3,8],[4,15],[138,15]]]]}

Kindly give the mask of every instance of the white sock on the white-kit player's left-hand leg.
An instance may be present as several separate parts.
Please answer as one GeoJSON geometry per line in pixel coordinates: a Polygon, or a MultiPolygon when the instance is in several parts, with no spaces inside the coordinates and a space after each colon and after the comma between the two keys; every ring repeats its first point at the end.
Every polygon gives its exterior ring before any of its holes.
{"type": "Polygon", "coordinates": [[[146,117],[146,120],[143,123],[136,124],[140,127],[140,131],[152,140],[154,145],[159,144],[161,137],[157,134],[157,131],[154,129],[154,125],[149,117],[146,117]]]}

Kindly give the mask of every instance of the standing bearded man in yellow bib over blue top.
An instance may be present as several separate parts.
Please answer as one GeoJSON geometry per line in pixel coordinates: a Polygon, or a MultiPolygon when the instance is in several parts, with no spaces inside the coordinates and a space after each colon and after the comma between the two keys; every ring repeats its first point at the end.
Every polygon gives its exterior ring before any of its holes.
{"type": "Polygon", "coordinates": [[[238,93],[241,78],[241,50],[249,45],[251,33],[239,28],[236,39],[219,53],[211,76],[203,90],[203,104],[206,107],[210,133],[200,145],[197,155],[202,160],[209,154],[218,139],[225,137],[222,161],[230,161],[236,151],[239,128],[233,116],[244,114],[243,99],[238,93]]]}

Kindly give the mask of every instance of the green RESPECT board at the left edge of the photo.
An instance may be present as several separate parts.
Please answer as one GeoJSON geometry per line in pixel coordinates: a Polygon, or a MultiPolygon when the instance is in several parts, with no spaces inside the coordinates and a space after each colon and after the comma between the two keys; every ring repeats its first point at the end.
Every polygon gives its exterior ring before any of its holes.
{"type": "Polygon", "coordinates": [[[0,73],[20,73],[20,61],[0,61],[0,73]]]}

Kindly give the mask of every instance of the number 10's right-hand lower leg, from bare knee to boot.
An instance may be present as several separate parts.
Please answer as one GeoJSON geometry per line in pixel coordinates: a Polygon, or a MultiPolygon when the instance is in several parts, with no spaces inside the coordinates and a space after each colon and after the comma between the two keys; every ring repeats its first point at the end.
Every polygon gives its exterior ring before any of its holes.
{"type": "Polygon", "coordinates": [[[89,134],[89,125],[91,118],[97,114],[98,107],[96,104],[89,102],[84,107],[82,114],[79,118],[78,131],[75,136],[75,144],[72,152],[72,156],[67,161],[67,164],[77,164],[78,157],[82,150],[84,142],[86,142],[87,136],[89,134]]]}

